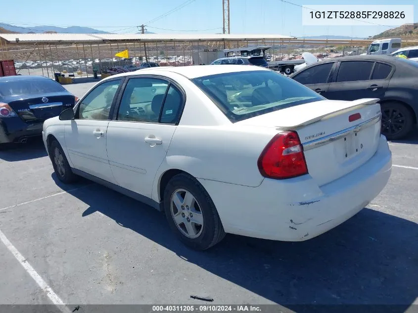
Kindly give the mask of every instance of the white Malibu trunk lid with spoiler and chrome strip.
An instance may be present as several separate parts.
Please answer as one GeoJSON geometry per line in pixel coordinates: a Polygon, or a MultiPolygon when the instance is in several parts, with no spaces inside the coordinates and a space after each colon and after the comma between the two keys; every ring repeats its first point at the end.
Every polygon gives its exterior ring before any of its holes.
{"type": "Polygon", "coordinates": [[[366,163],[380,138],[379,99],[323,100],[259,115],[236,124],[296,131],[308,172],[319,186],[366,163]],[[349,120],[350,116],[357,116],[349,120]]]}

